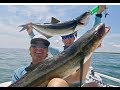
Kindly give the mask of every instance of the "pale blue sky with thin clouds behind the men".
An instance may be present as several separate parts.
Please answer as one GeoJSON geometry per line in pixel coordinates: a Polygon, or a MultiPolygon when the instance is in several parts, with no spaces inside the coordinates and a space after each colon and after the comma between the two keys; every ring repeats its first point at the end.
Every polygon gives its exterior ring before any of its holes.
{"type": "MultiPolygon", "coordinates": [[[[21,27],[18,26],[21,24],[50,22],[51,17],[64,22],[76,18],[96,5],[98,4],[0,4],[0,48],[29,48],[30,38],[27,32],[19,32],[21,27]]],[[[111,31],[104,38],[102,47],[96,51],[120,53],[120,4],[106,5],[109,15],[105,18],[103,14],[102,22],[110,26],[111,31]]],[[[79,37],[92,28],[94,17],[95,15],[92,15],[88,25],[78,32],[79,37]]],[[[39,34],[35,30],[34,33],[39,34]]],[[[63,43],[60,36],[49,40],[52,47],[62,48],[63,43]]]]}

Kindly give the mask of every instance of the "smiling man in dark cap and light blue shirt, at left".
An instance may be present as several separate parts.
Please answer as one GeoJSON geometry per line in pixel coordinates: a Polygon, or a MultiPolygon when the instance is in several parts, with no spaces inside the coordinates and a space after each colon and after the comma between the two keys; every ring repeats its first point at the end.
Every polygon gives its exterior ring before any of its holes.
{"type": "MultiPolygon", "coordinates": [[[[34,38],[31,40],[30,44],[29,51],[32,57],[30,65],[44,62],[44,59],[48,56],[48,47],[50,42],[44,38],[34,38]]],[[[12,82],[16,82],[20,79],[27,72],[27,67],[30,65],[26,65],[15,70],[12,76],[12,82]]]]}

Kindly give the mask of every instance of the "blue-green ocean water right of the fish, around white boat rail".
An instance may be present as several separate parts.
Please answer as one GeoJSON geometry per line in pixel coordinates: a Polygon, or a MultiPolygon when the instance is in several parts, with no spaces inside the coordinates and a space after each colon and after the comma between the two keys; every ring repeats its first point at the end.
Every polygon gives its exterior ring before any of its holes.
{"type": "MultiPolygon", "coordinates": [[[[94,53],[91,65],[99,73],[120,79],[120,53],[94,53]]],[[[120,86],[120,83],[104,78],[102,80],[106,84],[120,86]]]]}

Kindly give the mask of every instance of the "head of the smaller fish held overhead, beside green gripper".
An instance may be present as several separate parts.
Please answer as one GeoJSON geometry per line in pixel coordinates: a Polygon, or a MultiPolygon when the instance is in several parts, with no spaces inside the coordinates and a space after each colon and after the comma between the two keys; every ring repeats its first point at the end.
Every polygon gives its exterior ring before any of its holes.
{"type": "Polygon", "coordinates": [[[78,25],[86,25],[90,19],[90,11],[87,11],[76,18],[78,25]]]}

